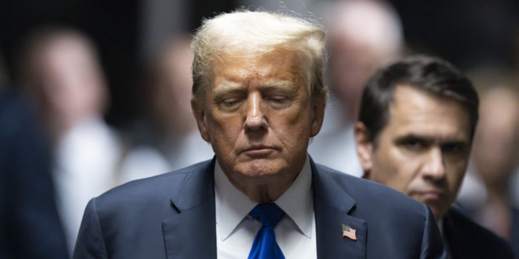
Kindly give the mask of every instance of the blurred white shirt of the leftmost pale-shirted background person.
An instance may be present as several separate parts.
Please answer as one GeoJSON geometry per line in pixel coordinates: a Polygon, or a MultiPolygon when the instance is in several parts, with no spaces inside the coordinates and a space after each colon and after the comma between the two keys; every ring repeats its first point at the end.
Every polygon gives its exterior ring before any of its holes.
{"type": "Polygon", "coordinates": [[[120,142],[101,118],[89,117],[63,135],[55,148],[57,210],[72,252],[84,207],[92,197],[115,186],[113,172],[120,159],[120,142]]]}

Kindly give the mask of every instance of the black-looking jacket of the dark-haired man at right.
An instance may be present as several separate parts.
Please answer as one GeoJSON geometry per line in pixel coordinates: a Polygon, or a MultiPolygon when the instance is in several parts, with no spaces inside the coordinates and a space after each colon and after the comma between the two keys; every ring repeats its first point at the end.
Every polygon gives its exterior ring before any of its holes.
{"type": "Polygon", "coordinates": [[[506,240],[495,236],[455,208],[450,208],[444,217],[444,236],[449,256],[453,259],[514,258],[506,240]]]}

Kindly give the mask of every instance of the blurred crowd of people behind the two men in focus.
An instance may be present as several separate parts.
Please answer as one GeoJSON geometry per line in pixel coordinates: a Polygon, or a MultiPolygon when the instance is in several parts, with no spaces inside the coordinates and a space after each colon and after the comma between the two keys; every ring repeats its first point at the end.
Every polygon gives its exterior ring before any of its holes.
{"type": "MultiPolygon", "coordinates": [[[[337,1],[327,8],[331,93],[309,154],[361,176],[353,126],[365,81],[414,51],[388,3],[337,1]]],[[[16,78],[0,71],[0,258],[66,258],[91,198],[213,156],[191,112],[188,35],[172,35],[146,64],[139,114],[125,133],[104,121],[107,80],[95,42],[80,30],[35,30],[18,60],[16,78]],[[28,242],[32,249],[24,249],[28,242]]],[[[458,203],[498,236],[519,240],[519,226],[512,227],[519,224],[518,72],[498,66],[466,72],[481,107],[458,203]]]]}

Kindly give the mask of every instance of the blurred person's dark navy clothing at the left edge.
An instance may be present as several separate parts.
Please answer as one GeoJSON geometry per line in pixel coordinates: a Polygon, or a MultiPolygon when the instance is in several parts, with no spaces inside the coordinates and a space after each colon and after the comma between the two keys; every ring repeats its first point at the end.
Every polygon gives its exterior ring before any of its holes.
{"type": "Polygon", "coordinates": [[[3,71],[0,64],[0,258],[69,258],[48,143],[3,71]]]}

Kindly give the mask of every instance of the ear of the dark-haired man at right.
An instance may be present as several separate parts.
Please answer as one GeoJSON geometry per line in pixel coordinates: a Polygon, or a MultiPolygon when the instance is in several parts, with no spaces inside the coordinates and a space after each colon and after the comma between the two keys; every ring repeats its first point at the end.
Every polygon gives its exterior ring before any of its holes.
{"type": "Polygon", "coordinates": [[[373,166],[373,143],[370,137],[370,131],[362,122],[355,124],[355,142],[357,146],[358,161],[361,162],[364,170],[364,178],[370,177],[370,171],[373,166]]]}

